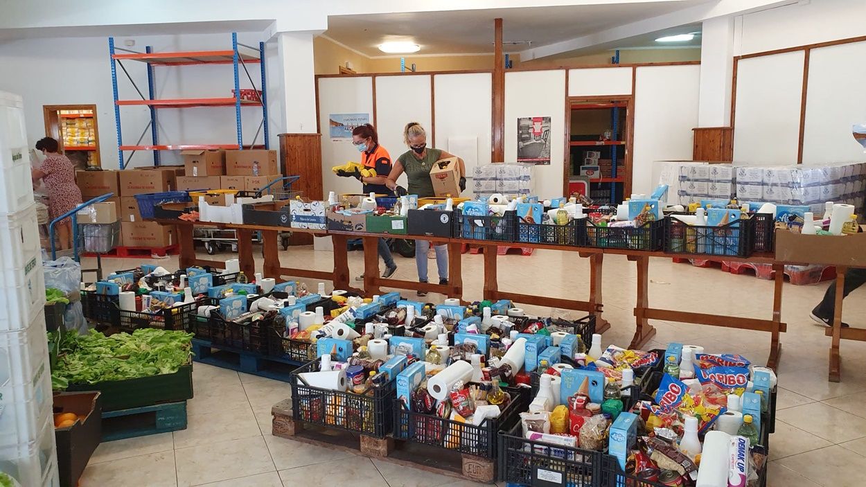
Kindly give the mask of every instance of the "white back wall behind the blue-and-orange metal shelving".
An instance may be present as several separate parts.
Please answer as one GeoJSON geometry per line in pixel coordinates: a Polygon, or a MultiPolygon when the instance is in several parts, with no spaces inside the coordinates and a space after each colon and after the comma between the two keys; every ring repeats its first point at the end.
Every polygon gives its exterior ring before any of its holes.
{"type": "MultiPolygon", "coordinates": [[[[261,34],[239,34],[239,41],[258,45],[261,34]]],[[[126,37],[115,39],[117,46],[125,47],[126,37]]],[[[144,51],[145,45],[153,50],[208,50],[231,49],[231,35],[212,34],[200,36],[139,36],[133,38],[132,49],[144,51]]],[[[278,73],[274,65],[266,71],[278,73]]],[[[124,62],[129,74],[137,82],[142,93],[147,95],[145,64],[124,62]]],[[[96,104],[100,158],[102,166],[117,168],[117,133],[114,124],[111,63],[106,37],[73,37],[63,39],[25,39],[0,44],[0,89],[21,94],[27,117],[27,132],[32,144],[44,136],[43,105],[96,104]]],[[[258,64],[248,66],[255,86],[261,84],[258,64]]],[[[118,66],[118,88],[121,100],[139,99],[122,69],[118,66]]],[[[207,65],[155,68],[157,98],[207,98],[229,97],[234,88],[231,65],[207,65]]],[[[268,79],[271,76],[268,75],[268,79]]],[[[249,88],[249,81],[241,71],[241,88],[249,88]]],[[[271,87],[273,88],[273,87],[271,87]]],[[[269,100],[275,101],[273,98],[269,100]]],[[[269,103],[270,107],[273,105],[269,103]]],[[[146,107],[121,107],[123,143],[134,145],[145,130],[150,114],[146,107]]],[[[272,109],[270,118],[271,146],[276,148],[276,134],[282,132],[279,112],[272,109]]],[[[168,144],[230,144],[236,142],[234,107],[209,108],[163,108],[158,111],[159,143],[168,144]]],[[[242,108],[244,142],[252,141],[262,120],[261,108],[242,108]]],[[[262,134],[258,143],[262,143],[262,134]]],[[[150,144],[150,131],[141,144],[150,144]]],[[[126,156],[129,153],[125,154],[126,156]]],[[[179,154],[161,153],[163,164],[177,164],[179,154]]],[[[149,166],[152,153],[136,153],[132,166],[149,166]]]]}

